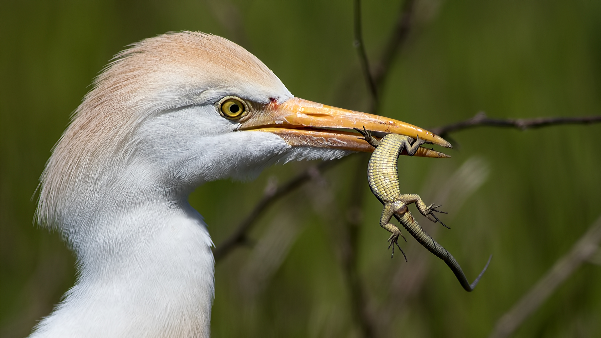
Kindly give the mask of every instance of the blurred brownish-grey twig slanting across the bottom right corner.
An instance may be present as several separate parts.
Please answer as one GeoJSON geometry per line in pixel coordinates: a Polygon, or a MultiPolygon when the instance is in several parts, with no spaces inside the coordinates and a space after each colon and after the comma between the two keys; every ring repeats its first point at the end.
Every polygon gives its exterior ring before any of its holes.
{"type": "Polygon", "coordinates": [[[511,310],[496,322],[490,338],[508,337],[528,318],[582,263],[599,249],[601,242],[601,217],[582,235],[572,250],[557,260],[547,274],[517,301],[511,310]]]}

